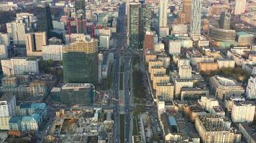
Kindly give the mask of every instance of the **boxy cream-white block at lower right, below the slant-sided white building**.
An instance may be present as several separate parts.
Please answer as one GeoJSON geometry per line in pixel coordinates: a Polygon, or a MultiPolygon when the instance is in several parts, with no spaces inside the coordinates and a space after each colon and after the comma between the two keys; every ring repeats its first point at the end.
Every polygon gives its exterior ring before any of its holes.
{"type": "Polygon", "coordinates": [[[231,118],[233,122],[253,122],[255,104],[253,102],[234,102],[231,118]]]}

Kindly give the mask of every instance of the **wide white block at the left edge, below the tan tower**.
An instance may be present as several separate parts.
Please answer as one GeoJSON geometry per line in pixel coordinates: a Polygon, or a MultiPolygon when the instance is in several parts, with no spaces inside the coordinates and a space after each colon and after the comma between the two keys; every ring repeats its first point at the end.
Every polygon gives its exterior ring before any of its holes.
{"type": "Polygon", "coordinates": [[[38,61],[35,58],[2,59],[1,68],[4,76],[22,75],[26,72],[39,73],[38,61]]]}

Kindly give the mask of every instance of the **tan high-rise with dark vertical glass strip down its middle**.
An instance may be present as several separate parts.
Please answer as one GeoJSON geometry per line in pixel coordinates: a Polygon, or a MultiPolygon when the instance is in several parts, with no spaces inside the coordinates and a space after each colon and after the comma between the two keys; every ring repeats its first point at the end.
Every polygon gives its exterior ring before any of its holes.
{"type": "Polygon", "coordinates": [[[27,56],[41,56],[42,46],[47,45],[45,31],[25,34],[27,56]]]}

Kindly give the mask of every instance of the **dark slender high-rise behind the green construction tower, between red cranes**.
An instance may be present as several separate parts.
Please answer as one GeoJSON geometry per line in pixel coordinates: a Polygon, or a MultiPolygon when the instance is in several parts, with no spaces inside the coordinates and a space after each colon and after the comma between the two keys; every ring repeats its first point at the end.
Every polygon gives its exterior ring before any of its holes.
{"type": "Polygon", "coordinates": [[[76,33],[86,34],[86,13],[79,9],[76,11],[76,33]]]}

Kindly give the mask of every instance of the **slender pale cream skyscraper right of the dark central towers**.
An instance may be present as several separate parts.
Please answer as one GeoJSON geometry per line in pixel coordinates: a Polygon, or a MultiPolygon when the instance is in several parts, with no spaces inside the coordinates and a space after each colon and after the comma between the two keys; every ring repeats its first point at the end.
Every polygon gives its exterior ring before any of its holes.
{"type": "Polygon", "coordinates": [[[167,4],[168,0],[160,0],[159,2],[159,27],[167,26],[167,4]]]}

